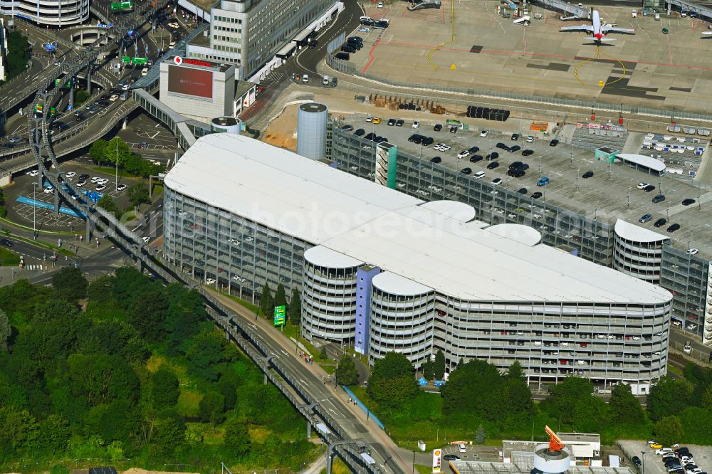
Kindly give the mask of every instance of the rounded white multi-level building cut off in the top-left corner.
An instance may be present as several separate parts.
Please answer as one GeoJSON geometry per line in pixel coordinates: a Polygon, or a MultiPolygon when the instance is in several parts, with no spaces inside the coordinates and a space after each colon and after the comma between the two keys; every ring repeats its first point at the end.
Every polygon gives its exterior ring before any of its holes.
{"type": "Polygon", "coordinates": [[[50,28],[80,25],[89,19],[89,0],[0,1],[0,13],[50,28]]]}

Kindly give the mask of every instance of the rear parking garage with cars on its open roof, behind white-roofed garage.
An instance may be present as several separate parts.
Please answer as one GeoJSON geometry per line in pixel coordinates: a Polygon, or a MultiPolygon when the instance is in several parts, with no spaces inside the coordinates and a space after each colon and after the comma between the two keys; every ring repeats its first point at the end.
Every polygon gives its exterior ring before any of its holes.
{"type": "MultiPolygon", "coordinates": [[[[706,307],[712,305],[712,287],[706,285],[708,276],[712,275],[708,265],[712,257],[708,238],[712,208],[708,203],[712,196],[708,196],[708,192],[660,177],[650,182],[666,194],[667,199],[653,204],[651,198],[657,191],[646,193],[637,189],[638,182],[649,179],[649,175],[595,161],[588,150],[552,148],[548,140],[537,140],[523,145],[535,151],[533,156],[523,158],[520,154],[502,152],[499,161],[504,166],[490,170],[485,168],[488,163],[485,160],[471,164],[467,159],[456,159],[454,154],[472,145],[478,145],[481,153],[486,154],[497,149],[494,142],[498,140],[511,143],[510,135],[490,131],[488,137],[481,138],[477,134],[459,132],[455,137],[447,132],[423,130],[422,125],[422,134],[452,145],[451,156],[447,156],[432,147],[409,144],[407,136],[412,130],[407,130],[408,127],[380,126],[379,129],[365,122],[353,122],[353,125],[387,133],[389,142],[398,145],[394,162],[399,191],[422,199],[451,199],[469,204],[476,209],[478,219],[487,223],[532,226],[541,233],[543,243],[659,283],[673,295],[671,317],[675,324],[698,335],[703,343],[712,344],[712,312],[706,312],[706,307]],[[435,155],[441,156],[441,163],[431,161],[435,155]],[[508,177],[507,165],[518,159],[532,164],[527,177],[508,177]],[[473,175],[464,174],[461,172],[464,167],[471,167],[473,172],[486,169],[487,178],[475,179],[473,175]],[[587,169],[595,176],[581,179],[587,169]],[[540,176],[551,177],[545,188],[535,186],[540,176]],[[491,182],[494,177],[501,177],[503,182],[495,186],[491,182]],[[524,194],[520,192],[522,188],[524,194]],[[535,199],[533,191],[542,191],[543,196],[535,199]],[[684,198],[691,196],[696,204],[681,204],[684,198]],[[651,213],[653,219],[639,223],[639,218],[646,213],[651,213]],[[666,226],[654,231],[654,223],[659,218],[665,218],[666,226]],[[671,223],[681,224],[681,229],[666,232],[671,223]]],[[[328,157],[336,162],[338,169],[375,179],[374,142],[330,126],[328,143],[328,157]]]]}

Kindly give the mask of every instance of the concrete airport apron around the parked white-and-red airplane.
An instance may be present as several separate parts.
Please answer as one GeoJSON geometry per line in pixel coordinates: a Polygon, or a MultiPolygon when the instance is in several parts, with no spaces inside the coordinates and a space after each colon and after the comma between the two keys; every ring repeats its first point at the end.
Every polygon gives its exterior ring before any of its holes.
{"type": "Polygon", "coordinates": [[[644,14],[630,7],[597,7],[602,26],[634,30],[610,33],[599,46],[590,40],[592,33],[560,31],[591,25],[591,10],[553,0],[547,6],[392,0],[364,2],[363,9],[389,24],[354,33],[364,45],[345,63],[373,78],[441,90],[663,109],[672,115],[705,114],[712,108],[707,94],[712,36],[702,34],[708,23],[679,11],[644,14]]]}

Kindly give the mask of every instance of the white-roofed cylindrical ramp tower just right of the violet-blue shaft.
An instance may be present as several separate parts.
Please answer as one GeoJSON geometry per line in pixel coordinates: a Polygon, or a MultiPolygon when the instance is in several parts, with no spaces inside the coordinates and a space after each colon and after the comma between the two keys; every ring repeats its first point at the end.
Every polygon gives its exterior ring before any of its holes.
{"type": "Polygon", "coordinates": [[[435,291],[391,272],[372,280],[370,363],[387,352],[400,352],[419,367],[433,343],[435,291]]]}

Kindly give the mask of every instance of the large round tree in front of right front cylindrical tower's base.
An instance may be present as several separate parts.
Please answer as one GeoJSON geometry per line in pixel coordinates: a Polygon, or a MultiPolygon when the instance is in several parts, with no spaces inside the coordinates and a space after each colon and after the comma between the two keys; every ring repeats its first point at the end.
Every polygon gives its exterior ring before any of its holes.
{"type": "Polygon", "coordinates": [[[368,379],[368,395],[383,409],[408,404],[418,393],[413,364],[399,352],[377,359],[368,379]]]}

